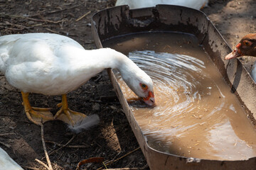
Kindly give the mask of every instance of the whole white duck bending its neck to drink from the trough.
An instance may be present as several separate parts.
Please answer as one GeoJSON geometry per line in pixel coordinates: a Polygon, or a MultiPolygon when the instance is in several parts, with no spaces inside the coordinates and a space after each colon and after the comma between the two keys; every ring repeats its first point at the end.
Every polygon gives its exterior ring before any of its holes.
{"type": "Polygon", "coordinates": [[[150,77],[120,52],[110,48],[85,50],[71,38],[50,33],[0,37],[0,71],[11,86],[21,90],[26,115],[36,124],[43,118],[75,125],[85,118],[68,108],[66,94],[106,68],[119,69],[129,88],[149,106],[155,105],[150,77]],[[62,102],[57,105],[60,111],[53,118],[49,108],[31,107],[29,93],[62,95],[62,102]]]}

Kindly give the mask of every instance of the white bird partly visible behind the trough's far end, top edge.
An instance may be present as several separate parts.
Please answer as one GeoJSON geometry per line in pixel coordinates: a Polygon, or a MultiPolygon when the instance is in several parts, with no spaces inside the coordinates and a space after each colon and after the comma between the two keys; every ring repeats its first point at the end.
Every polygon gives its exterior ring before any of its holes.
{"type": "Polygon", "coordinates": [[[157,4],[186,6],[197,10],[207,6],[208,0],[117,0],[115,6],[128,5],[129,8],[147,8],[157,4]]]}

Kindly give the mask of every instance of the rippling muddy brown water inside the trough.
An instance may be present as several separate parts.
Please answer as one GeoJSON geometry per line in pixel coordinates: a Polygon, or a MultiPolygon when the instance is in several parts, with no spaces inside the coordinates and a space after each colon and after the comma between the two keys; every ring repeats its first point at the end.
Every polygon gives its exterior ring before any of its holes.
{"type": "Polygon", "coordinates": [[[117,79],[149,146],[185,157],[240,160],[256,156],[256,132],[195,36],[141,33],[103,42],[128,55],[154,81],[155,108],[117,79]]]}

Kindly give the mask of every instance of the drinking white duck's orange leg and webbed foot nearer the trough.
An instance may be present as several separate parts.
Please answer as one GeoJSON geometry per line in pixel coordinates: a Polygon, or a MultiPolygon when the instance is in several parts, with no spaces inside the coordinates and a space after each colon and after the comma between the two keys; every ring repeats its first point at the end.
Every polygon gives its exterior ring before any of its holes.
{"type": "Polygon", "coordinates": [[[71,111],[70,108],[68,108],[68,100],[67,95],[63,94],[61,103],[58,103],[58,108],[60,108],[60,111],[56,113],[54,116],[54,119],[62,120],[65,123],[68,123],[69,125],[74,126],[75,123],[82,120],[86,117],[85,114],[71,111]]]}

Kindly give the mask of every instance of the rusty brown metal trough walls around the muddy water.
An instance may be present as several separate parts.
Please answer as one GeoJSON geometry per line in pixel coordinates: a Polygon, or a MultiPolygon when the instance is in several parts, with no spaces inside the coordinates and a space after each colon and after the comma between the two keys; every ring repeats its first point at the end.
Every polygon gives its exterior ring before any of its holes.
{"type": "MultiPolygon", "coordinates": [[[[101,48],[102,42],[108,38],[149,31],[178,31],[196,35],[255,125],[256,84],[239,60],[224,60],[231,49],[204,13],[182,6],[158,5],[134,10],[129,10],[128,6],[117,6],[92,16],[92,34],[97,48],[101,48]]],[[[116,77],[111,69],[108,69],[108,73],[150,169],[256,169],[256,157],[239,161],[197,159],[167,154],[149,147],[116,77]]]]}

